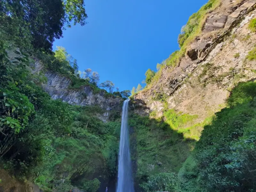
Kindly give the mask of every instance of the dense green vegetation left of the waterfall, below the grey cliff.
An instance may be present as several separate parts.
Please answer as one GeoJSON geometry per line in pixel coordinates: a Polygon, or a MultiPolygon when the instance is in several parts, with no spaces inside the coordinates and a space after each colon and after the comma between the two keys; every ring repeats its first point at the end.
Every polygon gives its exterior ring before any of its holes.
{"type": "Polygon", "coordinates": [[[44,191],[56,186],[61,188],[56,190],[69,190],[70,185],[79,187],[83,182],[90,183],[84,189],[96,191],[99,181],[83,181],[80,175],[100,171],[104,178],[115,176],[120,115],[103,124],[97,117],[104,112],[100,108],[50,99],[34,83],[41,76],[31,74],[29,60],[23,57],[17,58],[19,63],[11,62],[5,51],[8,47],[1,43],[2,168],[34,181],[44,191]],[[65,185],[60,185],[60,178],[65,178],[65,185]]]}

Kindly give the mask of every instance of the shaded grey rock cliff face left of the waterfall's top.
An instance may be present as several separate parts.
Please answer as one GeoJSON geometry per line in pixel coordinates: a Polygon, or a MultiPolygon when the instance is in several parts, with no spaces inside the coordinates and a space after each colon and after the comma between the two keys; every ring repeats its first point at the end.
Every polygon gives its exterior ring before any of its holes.
{"type": "MultiPolygon", "coordinates": [[[[36,60],[33,71],[37,72],[42,69],[43,65],[39,60],[36,60]]],[[[83,85],[77,89],[70,88],[72,81],[68,77],[49,70],[44,71],[47,83],[43,84],[43,88],[50,94],[52,99],[61,99],[63,102],[68,102],[72,105],[97,105],[105,111],[103,115],[99,115],[99,118],[104,122],[108,120],[111,110],[122,110],[122,98],[108,96],[104,90],[94,93],[88,85],[83,85]]]]}

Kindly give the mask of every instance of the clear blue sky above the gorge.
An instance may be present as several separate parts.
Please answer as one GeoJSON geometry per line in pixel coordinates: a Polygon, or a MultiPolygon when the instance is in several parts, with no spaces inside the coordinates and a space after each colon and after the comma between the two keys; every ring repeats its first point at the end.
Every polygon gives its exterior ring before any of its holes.
{"type": "MultiPolygon", "coordinates": [[[[110,80],[131,90],[148,68],[179,49],[177,37],[189,16],[207,0],[85,0],[85,26],[72,26],[56,40],[77,59],[79,70],[91,68],[100,82],[110,80]]],[[[142,85],[142,84],[141,84],[142,85]]]]}

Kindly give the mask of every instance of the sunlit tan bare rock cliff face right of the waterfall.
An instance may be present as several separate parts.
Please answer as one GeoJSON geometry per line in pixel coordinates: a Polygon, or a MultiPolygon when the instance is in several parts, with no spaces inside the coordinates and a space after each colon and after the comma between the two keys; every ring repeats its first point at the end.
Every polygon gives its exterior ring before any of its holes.
{"type": "Polygon", "coordinates": [[[180,63],[164,67],[156,82],[135,95],[147,108],[137,112],[155,111],[160,117],[165,102],[168,108],[199,115],[202,121],[223,108],[232,87],[256,78],[256,62],[246,59],[256,42],[256,34],[248,29],[256,17],[255,6],[255,0],[222,0],[208,13],[201,35],[187,47],[180,63]],[[154,99],[157,94],[164,102],[154,99]]]}

